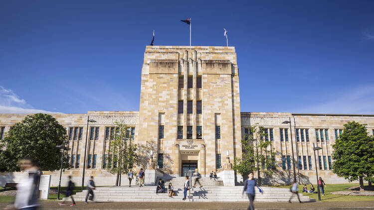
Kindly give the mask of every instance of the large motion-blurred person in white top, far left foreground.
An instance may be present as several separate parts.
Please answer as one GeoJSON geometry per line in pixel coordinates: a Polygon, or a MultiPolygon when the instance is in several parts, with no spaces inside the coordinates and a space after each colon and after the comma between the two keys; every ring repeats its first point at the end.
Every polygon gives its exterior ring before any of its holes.
{"type": "Polygon", "coordinates": [[[22,171],[28,172],[28,177],[17,184],[17,194],[15,196],[14,205],[7,209],[18,210],[36,210],[39,204],[39,179],[40,171],[38,164],[33,158],[23,158],[19,160],[19,167],[22,171]]]}

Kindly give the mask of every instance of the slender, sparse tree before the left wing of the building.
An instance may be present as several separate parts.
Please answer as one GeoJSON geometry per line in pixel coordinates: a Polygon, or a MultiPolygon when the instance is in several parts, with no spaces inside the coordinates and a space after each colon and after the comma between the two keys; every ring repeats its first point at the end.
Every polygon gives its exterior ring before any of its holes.
{"type": "Polygon", "coordinates": [[[116,185],[118,186],[120,173],[127,174],[128,170],[133,168],[138,161],[138,154],[130,128],[123,121],[116,121],[115,124],[115,137],[109,143],[108,154],[102,158],[109,163],[107,171],[117,175],[116,185]]]}

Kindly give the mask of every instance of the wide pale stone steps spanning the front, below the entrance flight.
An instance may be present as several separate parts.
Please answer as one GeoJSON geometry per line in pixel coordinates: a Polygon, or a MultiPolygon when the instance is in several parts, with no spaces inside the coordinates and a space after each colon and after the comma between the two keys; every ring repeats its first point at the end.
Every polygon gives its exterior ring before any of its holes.
{"type": "MultiPolygon", "coordinates": [[[[192,188],[187,191],[187,200],[183,201],[183,185],[174,185],[176,195],[168,197],[168,193],[156,194],[156,186],[133,186],[129,187],[98,187],[94,190],[94,200],[97,202],[248,202],[248,198],[241,198],[243,186],[222,187],[204,186],[192,188]]],[[[256,189],[256,202],[287,202],[291,196],[289,189],[262,187],[264,194],[261,195],[256,189]]],[[[84,201],[87,190],[74,196],[76,201],[84,201]]],[[[244,194],[245,195],[245,194],[244,194]]],[[[310,200],[308,196],[299,194],[303,202],[310,200]]],[[[297,201],[294,197],[292,201],[297,201]]]]}

